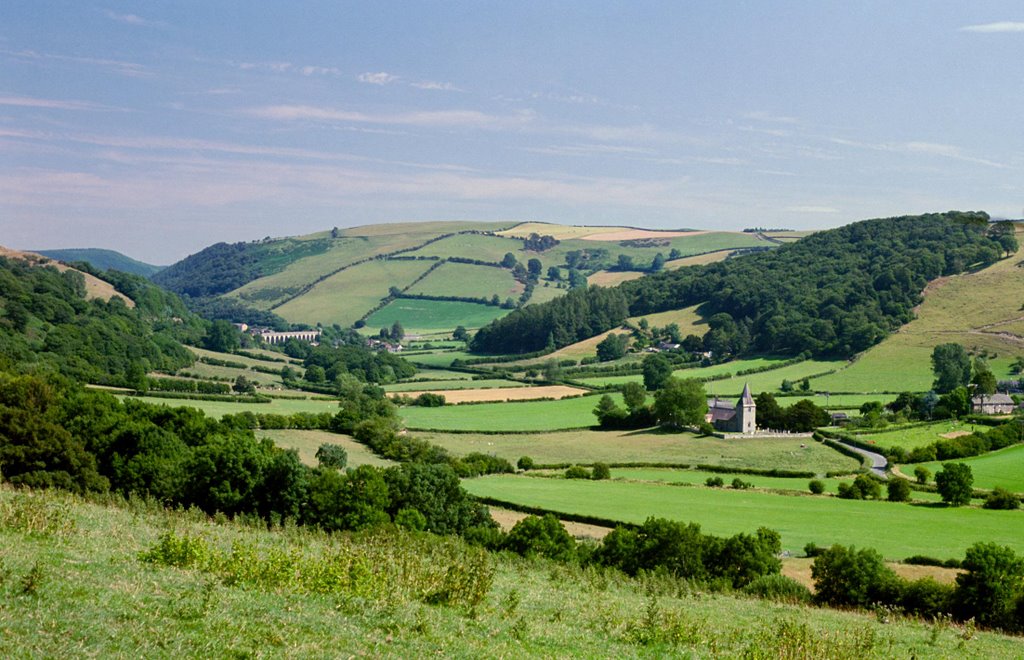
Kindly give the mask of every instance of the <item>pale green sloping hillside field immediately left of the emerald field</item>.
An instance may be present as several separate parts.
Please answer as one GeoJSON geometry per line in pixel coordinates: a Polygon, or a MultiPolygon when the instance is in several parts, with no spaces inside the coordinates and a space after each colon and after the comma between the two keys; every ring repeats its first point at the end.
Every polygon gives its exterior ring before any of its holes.
{"type": "Polygon", "coordinates": [[[431,265],[429,261],[368,261],[328,277],[273,311],[293,323],[350,325],[386,298],[390,287],[409,285],[431,265]]]}

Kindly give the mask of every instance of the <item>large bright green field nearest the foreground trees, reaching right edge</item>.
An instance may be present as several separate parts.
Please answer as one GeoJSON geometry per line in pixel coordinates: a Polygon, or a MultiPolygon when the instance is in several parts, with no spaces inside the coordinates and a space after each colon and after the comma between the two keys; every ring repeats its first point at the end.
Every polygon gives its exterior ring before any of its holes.
{"type": "Polygon", "coordinates": [[[474,495],[560,513],[631,523],[651,516],[695,522],[711,534],[768,527],[781,534],[783,549],[794,554],[801,554],[808,542],[873,547],[893,560],[912,555],[962,558],[977,541],[1024,552],[1024,514],[1014,511],[511,475],[471,479],[464,485],[474,495]]]}

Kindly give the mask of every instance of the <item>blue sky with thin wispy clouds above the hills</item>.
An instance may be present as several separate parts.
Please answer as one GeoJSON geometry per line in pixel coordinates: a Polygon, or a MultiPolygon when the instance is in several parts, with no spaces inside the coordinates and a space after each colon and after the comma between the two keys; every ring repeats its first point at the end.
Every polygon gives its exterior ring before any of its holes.
{"type": "Polygon", "coordinates": [[[1017,218],[1022,117],[1016,0],[4,0],[0,245],[1017,218]]]}

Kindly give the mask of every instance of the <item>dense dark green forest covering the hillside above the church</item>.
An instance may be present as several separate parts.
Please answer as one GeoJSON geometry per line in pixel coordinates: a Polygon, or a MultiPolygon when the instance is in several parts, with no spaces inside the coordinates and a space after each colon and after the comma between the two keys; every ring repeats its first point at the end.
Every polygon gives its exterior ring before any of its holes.
{"type": "Polygon", "coordinates": [[[477,333],[471,349],[560,348],[611,329],[628,316],[699,304],[710,326],[705,349],[717,355],[806,351],[849,357],[910,320],[928,281],[990,264],[1011,249],[1016,249],[1013,234],[1002,231],[1001,223],[989,223],[984,213],[866,220],[610,291],[570,292],[492,322],[477,333]]]}

